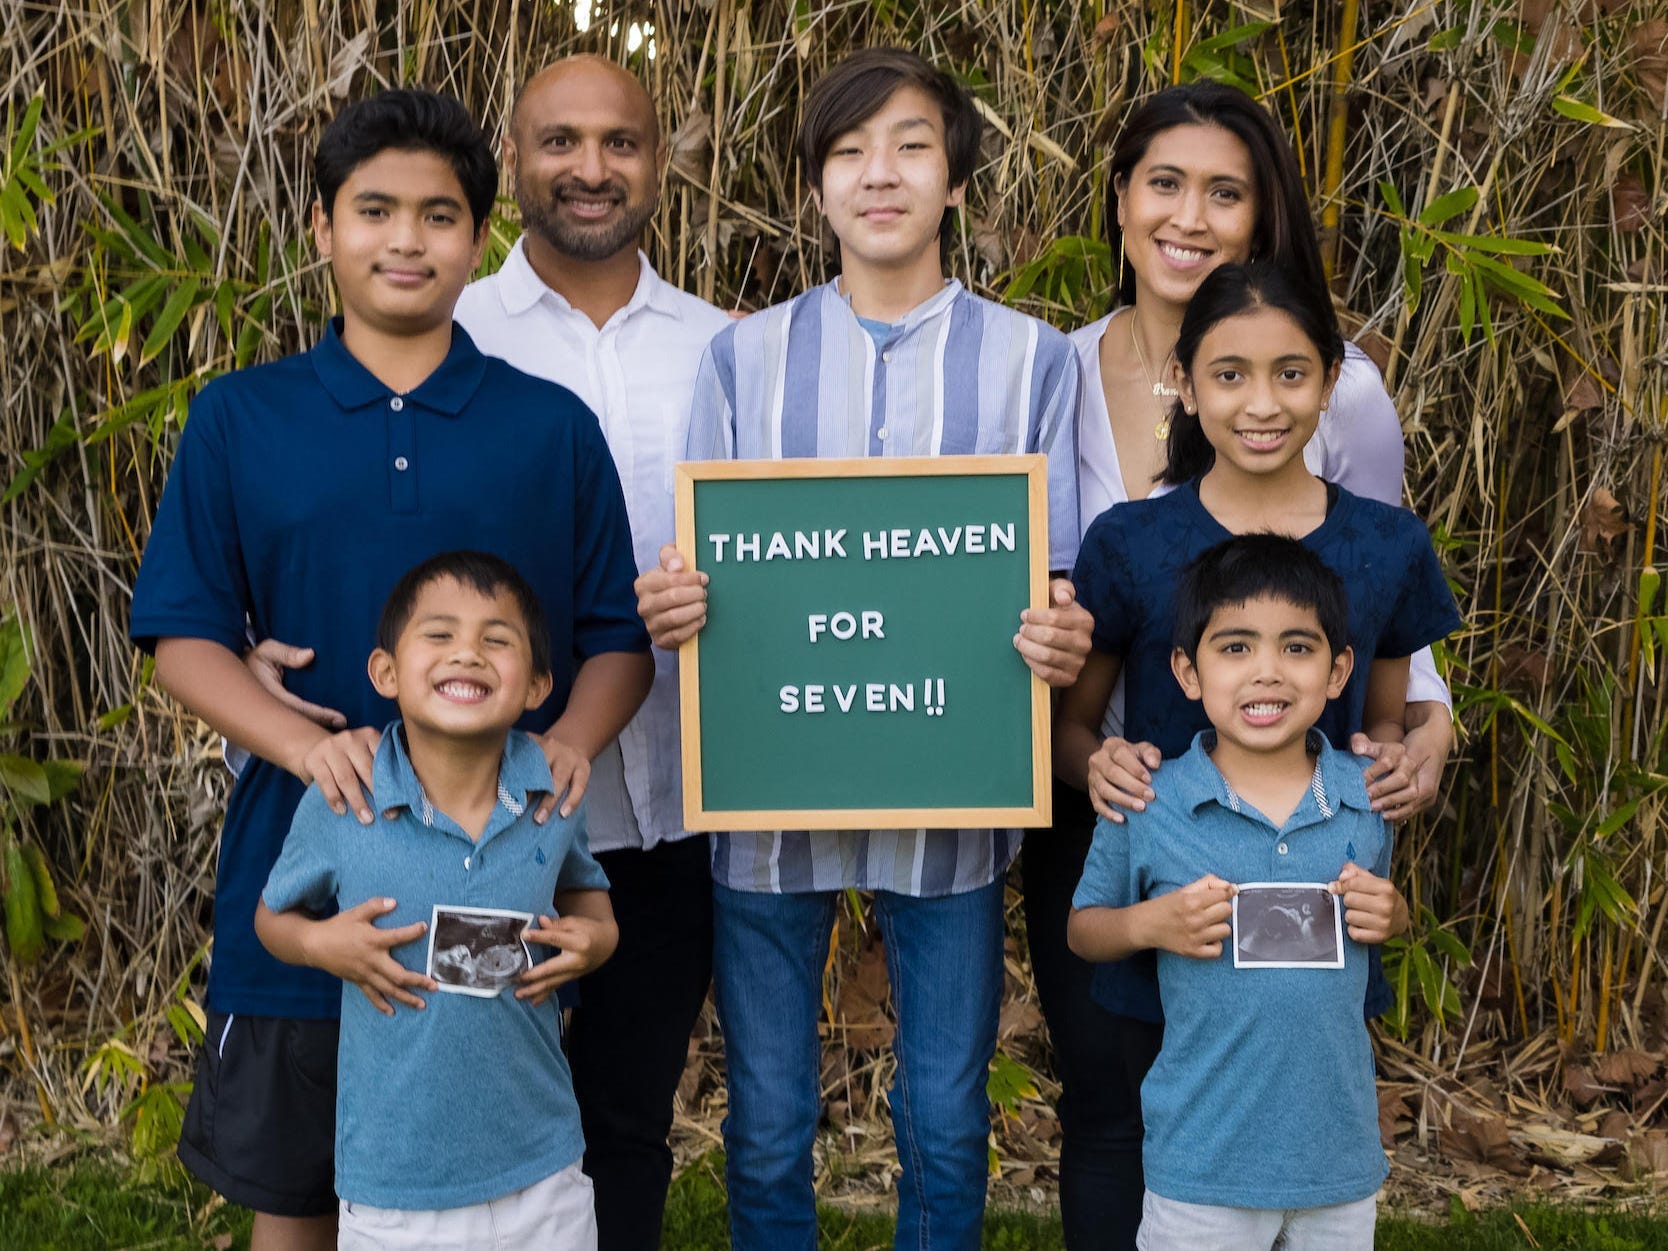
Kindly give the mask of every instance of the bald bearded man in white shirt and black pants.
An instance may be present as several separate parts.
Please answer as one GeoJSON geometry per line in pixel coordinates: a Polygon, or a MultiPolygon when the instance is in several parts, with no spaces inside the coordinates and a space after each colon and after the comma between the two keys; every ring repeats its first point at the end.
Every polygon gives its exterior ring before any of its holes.
{"type": "MultiPolygon", "coordinates": [[[[597,414],[639,570],[672,542],[672,462],[696,372],[729,324],[639,250],[666,157],[649,93],[619,65],[570,57],[540,70],[504,137],[522,237],[454,314],[482,352],[559,382],[597,414]]],[[[310,659],[269,641],[249,662],[277,692],[282,669],[310,659]]],[[[590,851],[620,932],[614,959],[579,982],[567,1039],[600,1251],[661,1244],[672,1099],[712,977],[707,839],[682,827],[677,654],[657,651],[654,662],[649,699],[592,762],[589,787],[580,772],[570,792],[589,792],[590,851]]],[[[287,699],[315,719],[334,716],[287,699]]]]}

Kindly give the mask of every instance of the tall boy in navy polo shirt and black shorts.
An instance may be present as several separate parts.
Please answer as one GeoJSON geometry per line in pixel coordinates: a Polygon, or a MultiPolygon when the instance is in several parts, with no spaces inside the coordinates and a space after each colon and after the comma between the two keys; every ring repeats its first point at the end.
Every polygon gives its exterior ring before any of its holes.
{"type": "MultiPolygon", "coordinates": [[[[335,1244],[340,986],[274,959],[255,904],[309,782],[372,824],[362,787],[394,706],[364,641],[412,565],[469,547],[515,565],[544,605],[550,694],[522,716],[554,777],[535,817],[574,811],[652,666],[636,615],[614,460],[574,395],[484,357],[452,307],[485,242],[492,150],[455,100],[385,92],[349,107],[314,162],[314,235],[342,315],[310,352],[208,384],[163,490],[130,632],[157,682],[255,759],[227,806],[215,879],[208,1029],[180,1159],[254,1208],[254,1251],[335,1244]],[[307,639],[304,701],[244,667],[245,631],[307,639]]],[[[357,922],[375,934],[369,916],[357,922]]],[[[560,922],[559,922],[560,924],[560,922]]],[[[385,939],[384,939],[385,941],[385,939]]]]}

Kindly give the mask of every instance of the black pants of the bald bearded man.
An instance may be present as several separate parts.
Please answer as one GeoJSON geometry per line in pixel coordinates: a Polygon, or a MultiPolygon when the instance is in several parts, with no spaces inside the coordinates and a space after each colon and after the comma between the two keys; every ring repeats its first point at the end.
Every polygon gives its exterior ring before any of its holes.
{"type": "Polygon", "coordinates": [[[597,861],[620,944],[579,982],[567,1059],[595,1189],[597,1248],[654,1251],[672,1183],[672,1099],[712,981],[711,852],[696,836],[597,861]]]}

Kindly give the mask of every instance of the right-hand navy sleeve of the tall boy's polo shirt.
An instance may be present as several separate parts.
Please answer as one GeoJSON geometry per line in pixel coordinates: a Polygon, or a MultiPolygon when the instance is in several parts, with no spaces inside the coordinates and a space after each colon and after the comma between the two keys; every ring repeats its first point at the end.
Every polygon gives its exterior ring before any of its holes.
{"type": "Polygon", "coordinates": [[[587,414],[580,424],[574,507],[574,651],[580,659],[602,652],[646,652],[649,631],[637,615],[637,557],[631,545],[626,494],[602,427],[587,414]]]}

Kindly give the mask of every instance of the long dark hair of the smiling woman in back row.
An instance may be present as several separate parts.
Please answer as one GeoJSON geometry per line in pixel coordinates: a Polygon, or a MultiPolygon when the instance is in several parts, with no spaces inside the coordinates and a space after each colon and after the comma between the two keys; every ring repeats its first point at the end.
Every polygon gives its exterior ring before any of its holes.
{"type": "MultiPolygon", "coordinates": [[[[1124,187],[1141,163],[1153,140],[1184,125],[1214,125],[1234,135],[1251,155],[1251,178],[1256,195],[1256,225],[1251,234],[1251,259],[1273,260],[1296,272],[1303,280],[1324,284],[1321,245],[1309,217],[1309,197],[1298,173],[1298,157],[1286,132],[1256,100],[1238,87],[1219,82],[1189,82],[1166,87],[1141,105],[1124,123],[1108,165],[1113,187],[1124,187]]],[[[1123,249],[1118,225],[1118,200],[1106,203],[1106,239],[1113,255],[1123,249]]],[[[1126,269],[1118,287],[1118,302],[1133,304],[1136,275],[1126,269]]]]}

